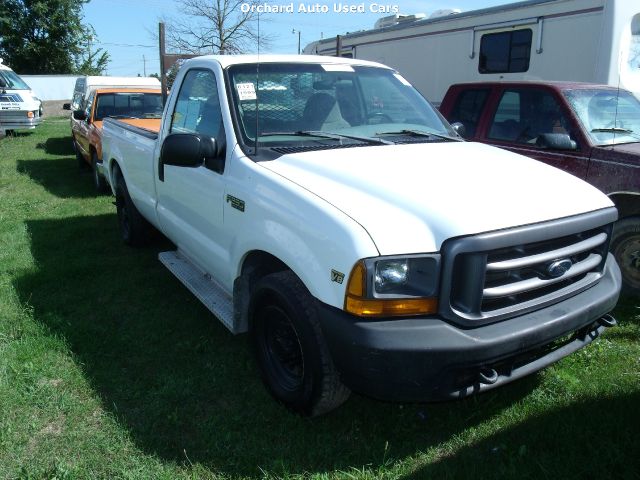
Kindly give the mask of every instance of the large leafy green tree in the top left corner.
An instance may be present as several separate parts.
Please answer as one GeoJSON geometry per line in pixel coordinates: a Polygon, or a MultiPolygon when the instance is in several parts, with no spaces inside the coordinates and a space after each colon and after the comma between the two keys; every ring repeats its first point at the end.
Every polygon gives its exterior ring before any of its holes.
{"type": "Polygon", "coordinates": [[[109,61],[92,51],[82,23],[88,0],[0,0],[0,57],[25,74],[99,73],[109,61]]]}

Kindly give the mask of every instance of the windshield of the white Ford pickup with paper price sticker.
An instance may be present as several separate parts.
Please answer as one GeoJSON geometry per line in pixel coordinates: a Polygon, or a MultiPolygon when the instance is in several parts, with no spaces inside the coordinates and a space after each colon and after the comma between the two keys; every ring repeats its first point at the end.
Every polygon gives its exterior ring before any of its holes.
{"type": "Polygon", "coordinates": [[[455,132],[390,69],[265,63],[229,68],[236,128],[247,146],[446,141],[455,132]],[[408,133],[412,132],[412,133],[408,133]],[[421,132],[415,135],[413,132],[421,132]]]}

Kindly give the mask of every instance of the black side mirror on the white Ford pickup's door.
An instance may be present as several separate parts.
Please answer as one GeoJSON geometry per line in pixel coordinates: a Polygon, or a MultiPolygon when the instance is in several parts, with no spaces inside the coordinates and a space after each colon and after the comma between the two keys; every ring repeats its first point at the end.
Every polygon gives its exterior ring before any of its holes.
{"type": "Polygon", "coordinates": [[[224,161],[219,157],[216,140],[210,136],[193,133],[173,133],[168,135],[160,150],[158,177],[164,181],[164,166],[200,167],[202,165],[221,173],[224,161]]]}

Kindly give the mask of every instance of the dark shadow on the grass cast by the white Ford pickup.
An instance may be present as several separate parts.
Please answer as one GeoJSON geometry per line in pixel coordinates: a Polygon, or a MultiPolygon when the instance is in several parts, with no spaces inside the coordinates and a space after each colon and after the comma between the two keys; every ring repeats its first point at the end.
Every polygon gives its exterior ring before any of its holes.
{"type": "Polygon", "coordinates": [[[246,335],[227,332],[158,262],[171,245],[125,247],[115,225],[115,215],[28,221],[36,267],[15,287],[65,339],[104,409],[163,460],[230,476],[375,471],[486,421],[539,382],[444,404],[353,395],[300,418],[266,393],[246,335]]]}

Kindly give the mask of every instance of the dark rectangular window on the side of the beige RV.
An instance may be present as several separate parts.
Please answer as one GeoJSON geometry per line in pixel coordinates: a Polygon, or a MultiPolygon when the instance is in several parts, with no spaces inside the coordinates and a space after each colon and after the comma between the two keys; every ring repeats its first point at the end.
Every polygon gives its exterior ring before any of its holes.
{"type": "Polygon", "coordinates": [[[480,40],[480,73],[514,73],[529,70],[530,28],[488,33],[480,40]]]}

